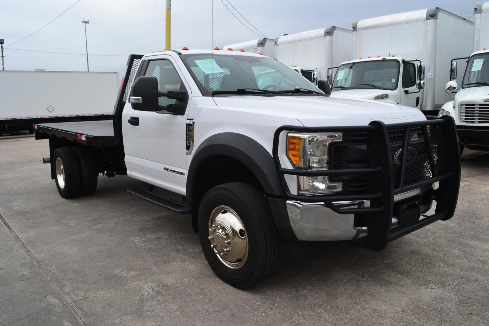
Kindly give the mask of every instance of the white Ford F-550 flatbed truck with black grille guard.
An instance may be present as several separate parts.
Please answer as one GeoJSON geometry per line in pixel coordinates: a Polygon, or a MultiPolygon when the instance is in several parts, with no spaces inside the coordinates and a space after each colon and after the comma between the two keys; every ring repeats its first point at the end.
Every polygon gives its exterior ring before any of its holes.
{"type": "Polygon", "coordinates": [[[49,139],[61,196],[94,193],[100,173],[138,179],[129,192],[191,214],[213,271],[245,288],[272,273],[283,241],[380,251],[454,214],[451,117],[329,93],[263,55],[132,55],[112,122],[38,124],[36,139],[49,139]]]}

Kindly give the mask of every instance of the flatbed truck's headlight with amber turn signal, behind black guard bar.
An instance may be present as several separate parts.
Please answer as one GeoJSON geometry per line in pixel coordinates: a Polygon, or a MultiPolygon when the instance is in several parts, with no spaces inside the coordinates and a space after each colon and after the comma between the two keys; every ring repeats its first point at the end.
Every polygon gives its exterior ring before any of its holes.
{"type": "MultiPolygon", "coordinates": [[[[287,134],[287,156],[295,169],[328,170],[328,147],[332,142],[343,140],[343,134],[299,133],[287,134]]],[[[342,182],[330,182],[328,176],[298,176],[299,193],[317,195],[336,193],[343,189],[342,182]]]]}

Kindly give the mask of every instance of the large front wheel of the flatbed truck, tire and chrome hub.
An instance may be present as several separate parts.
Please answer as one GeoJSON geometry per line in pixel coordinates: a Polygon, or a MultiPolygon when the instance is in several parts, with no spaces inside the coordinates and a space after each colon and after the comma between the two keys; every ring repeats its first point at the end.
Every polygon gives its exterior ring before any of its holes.
{"type": "Polygon", "coordinates": [[[202,198],[198,223],[205,258],[225,283],[247,288],[274,271],[280,241],[267,199],[255,187],[232,182],[212,188],[202,198]]]}

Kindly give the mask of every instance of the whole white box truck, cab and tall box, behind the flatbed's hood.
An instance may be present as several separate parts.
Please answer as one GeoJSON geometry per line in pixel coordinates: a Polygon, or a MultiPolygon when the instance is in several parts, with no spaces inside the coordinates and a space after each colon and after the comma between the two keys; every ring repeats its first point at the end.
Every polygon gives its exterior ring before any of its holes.
{"type": "Polygon", "coordinates": [[[472,22],[441,8],[355,22],[355,60],[342,63],[335,74],[331,71],[333,94],[398,103],[437,114],[450,100],[445,93],[450,60],[467,56],[472,33],[472,22]],[[425,70],[417,73],[423,64],[425,70]]]}

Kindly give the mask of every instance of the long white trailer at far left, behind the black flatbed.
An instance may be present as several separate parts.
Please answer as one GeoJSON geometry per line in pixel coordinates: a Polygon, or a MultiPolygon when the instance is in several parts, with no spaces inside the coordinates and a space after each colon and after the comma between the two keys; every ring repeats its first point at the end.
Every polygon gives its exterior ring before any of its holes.
{"type": "Polygon", "coordinates": [[[0,71],[0,132],[33,124],[110,120],[117,72],[0,71]]]}

